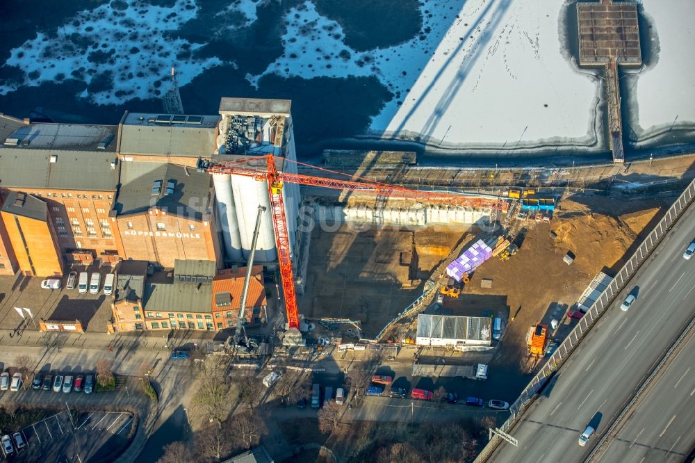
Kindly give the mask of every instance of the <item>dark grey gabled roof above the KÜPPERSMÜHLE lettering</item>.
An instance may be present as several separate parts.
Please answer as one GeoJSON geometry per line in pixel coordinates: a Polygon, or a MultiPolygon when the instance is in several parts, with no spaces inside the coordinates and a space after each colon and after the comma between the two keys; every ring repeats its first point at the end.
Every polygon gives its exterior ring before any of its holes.
{"type": "Polygon", "coordinates": [[[180,165],[124,162],[115,210],[124,216],[158,206],[167,213],[202,220],[210,204],[211,182],[211,175],[180,165]],[[156,181],[161,181],[158,193],[153,190],[156,181]]]}

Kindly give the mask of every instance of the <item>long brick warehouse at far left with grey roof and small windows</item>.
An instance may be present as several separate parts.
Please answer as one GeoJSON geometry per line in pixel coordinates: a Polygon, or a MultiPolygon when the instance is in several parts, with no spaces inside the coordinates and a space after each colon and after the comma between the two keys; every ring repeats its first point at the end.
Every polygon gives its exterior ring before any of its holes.
{"type": "MultiPolygon", "coordinates": [[[[0,135],[5,136],[0,145],[0,195],[27,193],[46,204],[57,237],[53,245],[62,261],[117,259],[114,223],[108,216],[118,181],[116,127],[28,124],[6,116],[0,122],[0,135]]],[[[0,249],[8,247],[4,239],[0,227],[0,249]]],[[[19,252],[15,247],[15,254],[19,252]]],[[[18,270],[5,261],[2,273],[18,270]]],[[[38,275],[26,267],[21,270],[38,275]]]]}

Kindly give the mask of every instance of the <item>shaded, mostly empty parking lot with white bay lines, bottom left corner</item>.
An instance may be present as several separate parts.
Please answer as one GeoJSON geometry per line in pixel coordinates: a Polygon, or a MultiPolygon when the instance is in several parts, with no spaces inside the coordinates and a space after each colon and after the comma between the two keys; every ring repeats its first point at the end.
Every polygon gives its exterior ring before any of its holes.
{"type": "Polygon", "coordinates": [[[127,444],[133,416],[118,412],[81,414],[72,422],[67,409],[22,429],[26,447],[15,462],[110,461],[127,444]]]}

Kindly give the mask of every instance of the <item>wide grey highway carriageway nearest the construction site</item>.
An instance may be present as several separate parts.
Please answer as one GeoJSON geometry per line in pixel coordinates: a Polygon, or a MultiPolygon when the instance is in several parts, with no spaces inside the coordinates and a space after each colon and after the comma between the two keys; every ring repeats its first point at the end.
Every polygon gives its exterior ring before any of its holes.
{"type": "MultiPolygon", "coordinates": [[[[693,238],[695,207],[686,211],[511,431],[518,448],[501,444],[492,461],[580,462],[587,457],[607,423],[621,411],[695,311],[695,259],[682,258],[693,238]],[[639,291],[639,295],[630,310],[623,312],[619,305],[630,291],[639,291]],[[590,423],[597,434],[581,447],[578,438],[590,423]]],[[[671,396],[669,391],[661,400],[671,396]]],[[[695,405],[691,400],[680,409],[694,414],[695,405]]],[[[654,420],[666,415],[670,419],[673,413],[662,409],[654,420]]]]}

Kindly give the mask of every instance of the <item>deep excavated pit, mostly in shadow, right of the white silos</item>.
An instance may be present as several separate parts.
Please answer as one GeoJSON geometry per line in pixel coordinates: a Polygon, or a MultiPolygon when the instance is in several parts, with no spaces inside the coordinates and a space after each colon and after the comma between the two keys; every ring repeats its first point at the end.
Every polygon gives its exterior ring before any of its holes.
{"type": "Polygon", "coordinates": [[[363,336],[376,335],[418,298],[432,269],[467,229],[341,225],[327,232],[317,227],[311,236],[300,313],[307,318],[361,320],[363,336]]]}

